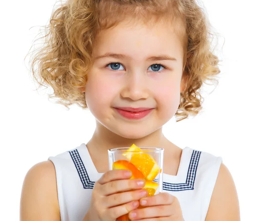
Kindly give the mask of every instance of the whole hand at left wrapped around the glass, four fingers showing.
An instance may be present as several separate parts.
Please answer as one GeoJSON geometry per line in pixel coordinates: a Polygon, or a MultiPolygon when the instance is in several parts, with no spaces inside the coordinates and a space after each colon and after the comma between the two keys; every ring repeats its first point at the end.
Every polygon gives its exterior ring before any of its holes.
{"type": "Polygon", "coordinates": [[[115,169],[105,172],[94,184],[90,208],[83,221],[115,221],[119,216],[139,207],[144,180],[129,179],[131,171],[115,169]]]}

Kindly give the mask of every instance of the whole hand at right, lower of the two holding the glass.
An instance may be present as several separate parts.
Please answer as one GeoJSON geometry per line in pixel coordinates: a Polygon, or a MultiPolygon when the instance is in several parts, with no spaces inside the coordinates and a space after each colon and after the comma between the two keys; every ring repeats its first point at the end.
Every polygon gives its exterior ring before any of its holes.
{"type": "Polygon", "coordinates": [[[145,208],[129,212],[131,220],[184,221],[178,199],[168,192],[141,198],[140,205],[145,208]]]}

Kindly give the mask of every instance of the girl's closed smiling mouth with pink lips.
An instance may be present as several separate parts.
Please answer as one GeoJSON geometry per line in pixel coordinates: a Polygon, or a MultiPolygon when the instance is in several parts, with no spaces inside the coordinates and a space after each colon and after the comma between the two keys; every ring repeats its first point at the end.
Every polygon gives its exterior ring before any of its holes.
{"type": "Polygon", "coordinates": [[[148,107],[114,107],[114,109],[124,118],[139,120],[147,116],[154,108],[148,107]]]}

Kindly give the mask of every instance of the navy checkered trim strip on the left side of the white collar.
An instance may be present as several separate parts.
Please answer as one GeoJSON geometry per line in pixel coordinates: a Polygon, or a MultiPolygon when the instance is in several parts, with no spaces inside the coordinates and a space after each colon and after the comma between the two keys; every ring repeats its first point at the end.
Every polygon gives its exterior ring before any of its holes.
{"type": "Polygon", "coordinates": [[[70,153],[70,156],[76,166],[76,170],[79,174],[79,177],[84,186],[84,189],[93,189],[95,182],[90,181],[90,178],[89,178],[87,171],[84,167],[84,163],[81,160],[81,157],[80,157],[77,149],[75,149],[73,151],[69,151],[69,153],[70,153]]]}

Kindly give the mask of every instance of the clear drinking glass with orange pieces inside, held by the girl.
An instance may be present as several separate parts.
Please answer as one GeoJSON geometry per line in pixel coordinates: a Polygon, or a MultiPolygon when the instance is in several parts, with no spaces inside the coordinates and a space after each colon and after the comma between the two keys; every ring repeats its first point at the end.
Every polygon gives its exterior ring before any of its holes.
{"type": "MultiPolygon", "coordinates": [[[[128,151],[129,148],[119,147],[108,150],[109,169],[129,169],[133,173],[131,179],[137,179],[138,174],[143,172],[143,177],[139,176],[139,179],[145,179],[146,185],[144,189],[148,190],[148,195],[156,195],[162,192],[164,149],[160,147],[139,147],[141,151],[128,151]],[[152,158],[154,159],[153,161],[152,158]],[[137,169],[140,171],[138,172],[137,169]]],[[[140,206],[139,208],[143,207],[140,206]]],[[[126,214],[117,218],[116,221],[130,221],[130,219],[128,214],[126,214]]]]}

